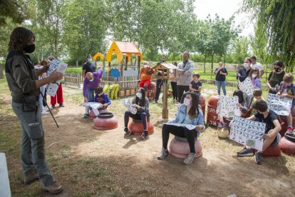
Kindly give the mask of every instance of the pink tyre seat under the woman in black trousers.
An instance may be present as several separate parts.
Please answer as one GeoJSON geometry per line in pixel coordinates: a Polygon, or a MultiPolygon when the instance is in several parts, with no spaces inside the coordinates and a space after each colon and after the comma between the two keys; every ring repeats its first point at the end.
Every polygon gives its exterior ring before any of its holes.
{"type": "MultiPolygon", "coordinates": [[[[168,150],[172,156],[177,158],[187,158],[188,154],[190,154],[190,145],[187,142],[187,138],[175,136],[172,138],[172,141],[170,141],[168,150]]],[[[202,143],[198,138],[195,140],[195,150],[195,158],[202,156],[202,143]]]]}

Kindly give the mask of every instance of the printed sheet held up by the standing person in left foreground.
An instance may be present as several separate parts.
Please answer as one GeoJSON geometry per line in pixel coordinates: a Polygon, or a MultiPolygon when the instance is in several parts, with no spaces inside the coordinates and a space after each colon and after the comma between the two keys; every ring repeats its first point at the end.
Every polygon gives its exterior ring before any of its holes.
{"type": "MultiPolygon", "coordinates": [[[[53,59],[53,61],[51,61],[49,64],[49,69],[48,69],[46,75],[50,76],[53,71],[65,74],[67,66],[68,66],[68,64],[66,64],[62,61],[59,61],[58,59],[53,59]]],[[[56,82],[48,84],[47,85],[47,94],[50,96],[55,96],[59,84],[61,84],[61,80],[58,80],[56,82]]]]}

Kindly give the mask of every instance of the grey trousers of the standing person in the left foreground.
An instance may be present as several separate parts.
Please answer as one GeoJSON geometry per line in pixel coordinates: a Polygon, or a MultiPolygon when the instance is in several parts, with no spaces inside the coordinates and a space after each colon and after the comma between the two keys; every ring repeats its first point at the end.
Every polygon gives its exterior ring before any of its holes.
{"type": "Polygon", "coordinates": [[[36,101],[37,111],[23,111],[22,103],[11,103],[12,109],[21,121],[23,136],[21,139],[21,166],[25,176],[36,169],[43,186],[54,183],[53,176],[48,169],[45,150],[44,132],[41,119],[41,108],[36,101]]]}

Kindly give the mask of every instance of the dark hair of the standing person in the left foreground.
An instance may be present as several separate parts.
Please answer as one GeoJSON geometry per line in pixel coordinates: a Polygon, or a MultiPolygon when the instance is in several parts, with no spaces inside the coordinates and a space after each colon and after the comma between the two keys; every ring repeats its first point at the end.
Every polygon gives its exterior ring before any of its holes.
{"type": "Polygon", "coordinates": [[[11,32],[8,51],[24,51],[31,39],[35,40],[35,35],[31,30],[24,27],[16,27],[11,32]]]}

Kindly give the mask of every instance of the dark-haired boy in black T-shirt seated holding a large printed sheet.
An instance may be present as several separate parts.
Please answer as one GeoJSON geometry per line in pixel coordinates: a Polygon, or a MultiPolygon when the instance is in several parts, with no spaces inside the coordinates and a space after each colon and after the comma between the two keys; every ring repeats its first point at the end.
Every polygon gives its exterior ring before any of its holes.
{"type": "MultiPolygon", "coordinates": [[[[257,151],[255,154],[255,162],[260,164],[262,163],[262,153],[266,150],[266,148],[271,145],[276,146],[279,144],[281,139],[281,135],[279,134],[279,131],[281,131],[281,124],[279,123],[279,116],[274,111],[268,109],[266,101],[256,101],[253,103],[252,107],[257,110],[257,112],[247,119],[266,123],[265,132],[262,136],[264,139],[262,151],[257,151]]],[[[244,147],[242,151],[237,152],[237,156],[253,155],[254,153],[252,148],[244,147]]]]}

